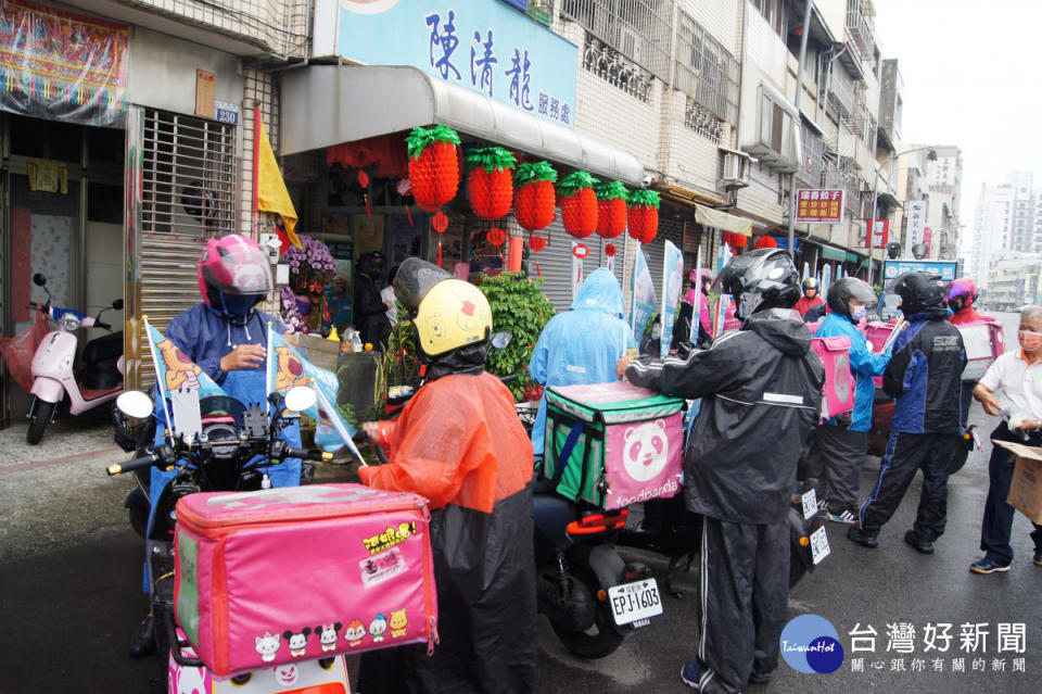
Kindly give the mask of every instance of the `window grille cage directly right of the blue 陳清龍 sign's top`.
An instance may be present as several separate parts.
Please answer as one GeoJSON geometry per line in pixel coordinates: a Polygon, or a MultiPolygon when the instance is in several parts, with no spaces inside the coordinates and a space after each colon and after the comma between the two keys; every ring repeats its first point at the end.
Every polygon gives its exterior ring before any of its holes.
{"type": "Polygon", "coordinates": [[[673,0],[562,0],[561,13],[659,79],[669,79],[673,0]]]}

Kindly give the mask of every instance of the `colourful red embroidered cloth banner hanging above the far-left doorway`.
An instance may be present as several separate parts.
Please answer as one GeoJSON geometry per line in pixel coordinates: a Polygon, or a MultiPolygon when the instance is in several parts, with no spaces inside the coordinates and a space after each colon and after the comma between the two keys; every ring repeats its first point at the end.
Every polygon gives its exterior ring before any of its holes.
{"type": "Polygon", "coordinates": [[[122,125],[128,54],[124,24],[5,0],[0,4],[0,109],[122,125]]]}

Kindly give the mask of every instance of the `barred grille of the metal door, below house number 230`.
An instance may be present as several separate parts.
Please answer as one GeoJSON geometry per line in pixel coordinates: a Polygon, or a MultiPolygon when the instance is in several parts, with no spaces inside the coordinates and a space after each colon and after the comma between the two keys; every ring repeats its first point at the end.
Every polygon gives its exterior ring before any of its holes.
{"type": "Polygon", "coordinates": [[[148,109],[143,130],[142,230],[187,236],[234,231],[234,127],[148,109]]]}

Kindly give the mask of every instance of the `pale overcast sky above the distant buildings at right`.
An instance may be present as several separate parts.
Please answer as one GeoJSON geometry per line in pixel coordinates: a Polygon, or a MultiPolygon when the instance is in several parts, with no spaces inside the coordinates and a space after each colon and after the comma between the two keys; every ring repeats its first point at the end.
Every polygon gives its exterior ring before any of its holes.
{"type": "Polygon", "coordinates": [[[960,215],[1012,171],[1042,185],[1042,2],[873,0],[884,58],[904,77],[904,142],[963,150],[960,215]]]}

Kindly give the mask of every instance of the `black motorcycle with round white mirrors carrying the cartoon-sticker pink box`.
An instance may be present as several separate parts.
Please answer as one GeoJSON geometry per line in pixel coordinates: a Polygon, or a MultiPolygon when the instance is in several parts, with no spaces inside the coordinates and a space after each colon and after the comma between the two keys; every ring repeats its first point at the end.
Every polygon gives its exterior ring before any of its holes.
{"type": "MultiPolygon", "coordinates": [[[[167,660],[168,691],[175,694],[193,691],[301,692],[302,683],[316,687],[307,691],[351,691],[345,661],[340,655],[218,678],[194,656],[176,623],[174,539],[177,500],[195,492],[264,489],[270,483],[258,467],[290,457],[304,460],[329,460],[332,457],[322,451],[293,447],[277,438],[300,419],[302,411],[315,404],[310,388],[291,388],[284,396],[272,393],[268,403],[270,415],[265,412],[263,403],[246,407],[226,395],[203,398],[198,434],[168,437],[166,443],[139,450],[138,457],[107,468],[110,476],[143,474],[139,479],[147,477],[152,467],[175,470],[174,478],[155,501],[145,539],[145,568],[156,646],[161,658],[167,660]]],[[[152,399],[140,391],[128,391],[116,400],[116,408],[119,412],[116,417],[117,440],[142,441],[142,431],[151,425],[152,399]]]]}

